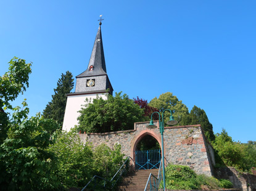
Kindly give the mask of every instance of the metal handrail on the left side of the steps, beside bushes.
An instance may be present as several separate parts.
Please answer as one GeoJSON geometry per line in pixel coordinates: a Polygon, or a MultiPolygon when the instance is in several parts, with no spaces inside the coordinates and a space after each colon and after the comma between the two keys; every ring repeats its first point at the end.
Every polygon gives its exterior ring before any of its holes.
{"type": "MultiPolygon", "coordinates": [[[[123,165],[118,169],[117,173],[115,173],[115,175],[112,177],[112,179],[110,181],[107,179],[104,179],[104,177],[94,175],[81,191],[85,191],[86,188],[88,188],[88,185],[91,185],[93,183],[94,183],[93,190],[99,190],[99,189],[112,190],[114,188],[115,184],[117,183],[117,181],[122,176],[122,174],[126,171],[126,168],[128,168],[128,165],[130,162],[129,158],[131,158],[131,157],[128,156],[126,158],[123,165]],[[119,174],[119,176],[118,176],[118,174],[119,174]],[[116,177],[117,177],[117,179],[115,179],[116,177]]],[[[133,160],[133,159],[131,158],[131,160],[133,160]]]]}

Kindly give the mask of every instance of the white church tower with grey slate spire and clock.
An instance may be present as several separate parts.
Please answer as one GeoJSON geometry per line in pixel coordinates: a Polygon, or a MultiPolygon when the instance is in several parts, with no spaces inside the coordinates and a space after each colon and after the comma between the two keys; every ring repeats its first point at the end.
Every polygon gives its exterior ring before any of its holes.
{"type": "Polygon", "coordinates": [[[105,67],[100,22],[88,67],[83,73],[76,76],[75,92],[67,94],[67,105],[62,129],[69,131],[78,124],[77,118],[80,115],[78,111],[81,110],[81,105],[85,105],[86,98],[94,99],[97,95],[102,97],[107,94],[107,89],[109,89],[109,94],[112,95],[113,88],[105,67]]]}

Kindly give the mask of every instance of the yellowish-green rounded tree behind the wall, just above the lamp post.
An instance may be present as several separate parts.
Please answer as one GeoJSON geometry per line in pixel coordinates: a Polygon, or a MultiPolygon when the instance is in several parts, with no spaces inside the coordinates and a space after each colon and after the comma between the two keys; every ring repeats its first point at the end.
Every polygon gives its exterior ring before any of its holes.
{"type": "MultiPolygon", "coordinates": [[[[175,120],[179,122],[180,125],[184,124],[184,118],[189,115],[188,107],[182,103],[181,100],[173,95],[171,92],[166,92],[161,94],[159,98],[155,97],[149,102],[151,107],[157,108],[160,113],[165,109],[170,109],[175,120]]],[[[166,113],[165,122],[169,120],[170,114],[166,113]]]]}

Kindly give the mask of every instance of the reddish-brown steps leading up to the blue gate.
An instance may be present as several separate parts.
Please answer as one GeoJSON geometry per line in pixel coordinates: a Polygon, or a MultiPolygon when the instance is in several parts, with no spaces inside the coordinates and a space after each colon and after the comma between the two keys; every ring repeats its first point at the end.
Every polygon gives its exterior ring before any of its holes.
{"type": "Polygon", "coordinates": [[[142,191],[145,189],[149,174],[158,176],[159,169],[139,170],[124,177],[123,182],[118,186],[118,191],[142,191]]]}

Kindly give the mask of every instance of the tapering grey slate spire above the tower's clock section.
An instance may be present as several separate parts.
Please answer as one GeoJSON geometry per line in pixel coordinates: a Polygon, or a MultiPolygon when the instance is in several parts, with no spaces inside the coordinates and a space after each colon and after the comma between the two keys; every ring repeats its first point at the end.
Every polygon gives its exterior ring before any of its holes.
{"type": "Polygon", "coordinates": [[[99,25],[99,29],[97,31],[97,35],[94,41],[93,51],[91,52],[91,58],[89,60],[87,70],[85,70],[80,75],[76,76],[76,78],[106,74],[107,70],[105,68],[105,57],[102,44],[101,25],[99,25]],[[93,65],[93,71],[89,71],[89,67],[91,65],[93,65]]]}

